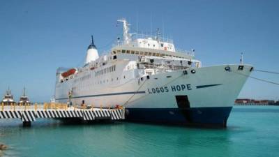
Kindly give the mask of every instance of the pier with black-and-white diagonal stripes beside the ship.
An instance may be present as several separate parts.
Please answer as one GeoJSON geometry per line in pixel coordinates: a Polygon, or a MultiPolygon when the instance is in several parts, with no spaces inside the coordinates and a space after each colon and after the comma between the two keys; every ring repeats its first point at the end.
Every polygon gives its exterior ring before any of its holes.
{"type": "Polygon", "coordinates": [[[41,105],[1,105],[0,119],[21,119],[24,127],[31,126],[36,119],[82,119],[82,121],[122,120],[124,108],[95,108],[93,106],[71,106],[61,103],[41,105]]]}

